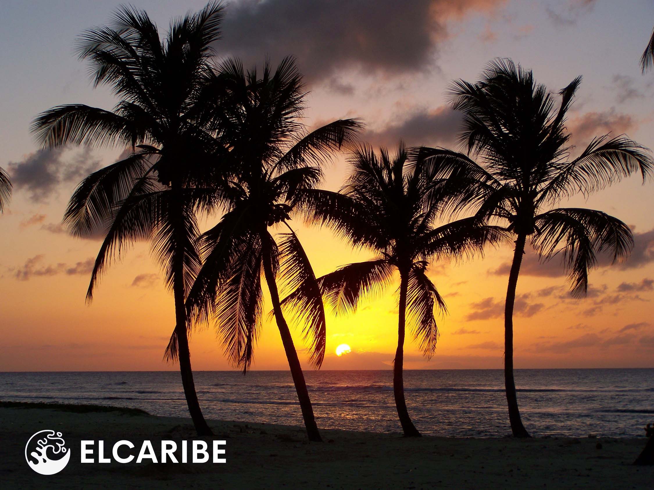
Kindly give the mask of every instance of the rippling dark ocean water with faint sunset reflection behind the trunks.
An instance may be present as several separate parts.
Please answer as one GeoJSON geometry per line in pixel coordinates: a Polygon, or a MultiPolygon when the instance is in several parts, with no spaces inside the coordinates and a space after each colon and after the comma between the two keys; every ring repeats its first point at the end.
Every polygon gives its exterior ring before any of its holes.
{"type": "MultiPolygon", "coordinates": [[[[196,371],[205,417],[302,425],[288,371],[196,371]]],[[[407,370],[409,414],[424,434],[510,433],[502,370],[407,370]]],[[[305,371],[318,427],[400,433],[392,371],[305,371]]],[[[535,436],[643,436],[654,422],[654,369],[518,369],[523,423],[535,436]]],[[[90,403],[188,417],[179,372],[0,372],[0,399],[90,403]]]]}

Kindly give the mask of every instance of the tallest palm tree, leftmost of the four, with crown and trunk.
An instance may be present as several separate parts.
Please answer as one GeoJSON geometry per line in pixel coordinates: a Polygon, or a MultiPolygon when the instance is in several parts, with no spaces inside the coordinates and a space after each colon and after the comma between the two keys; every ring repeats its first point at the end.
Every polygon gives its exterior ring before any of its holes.
{"type": "Polygon", "coordinates": [[[220,149],[205,114],[212,73],[211,44],[220,37],[222,5],[209,3],[171,23],[160,39],[146,12],[120,8],[109,27],[95,27],[77,44],[90,63],[95,86],[111,86],[114,110],[56,106],[33,123],[46,147],[64,144],[129,146],[124,159],[85,178],[75,190],[64,223],[74,235],[102,229],[87,301],[107,262],[126,245],[149,239],[175,299],[179,367],[188,410],[199,435],[210,435],[195,391],[186,336],[186,293],[201,267],[195,242],[196,211],[207,206],[220,149]]]}

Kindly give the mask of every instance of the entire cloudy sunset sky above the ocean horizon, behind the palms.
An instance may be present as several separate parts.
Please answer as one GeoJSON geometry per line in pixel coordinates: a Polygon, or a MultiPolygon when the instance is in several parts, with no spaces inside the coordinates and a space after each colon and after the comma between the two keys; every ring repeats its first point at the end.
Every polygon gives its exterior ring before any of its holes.
{"type": "MultiPolygon", "coordinates": [[[[105,24],[118,5],[3,2],[0,167],[9,172],[14,193],[0,215],[0,370],[177,368],[162,358],[174,326],[173,299],[148,244],[127,250],[86,304],[100,242],[70,237],[61,227],[78,182],[115,161],[122,148],[46,152],[29,133],[31,120],[54,105],[116,103],[107,88],[92,87],[73,47],[84,29],[105,24]]],[[[169,19],[204,2],[133,5],[165,30],[169,19]]],[[[578,148],[609,132],[654,148],[654,73],[642,74],[638,66],[653,19],[654,4],[647,0],[246,0],[226,8],[215,49],[218,58],[239,56],[248,66],[295,56],[310,90],[305,123],[363,118],[362,138],[375,146],[392,148],[403,139],[456,148],[460,116],[447,105],[449,83],[474,82],[488,61],[511,57],[553,93],[583,76],[567,123],[578,148]]],[[[326,170],[324,188],[339,189],[346,172],[340,155],[326,170]]],[[[636,246],[624,263],[602,261],[582,300],[570,296],[560,263],[541,265],[529,250],[517,291],[515,366],[654,367],[654,182],[643,186],[634,176],[561,205],[617,216],[630,225],[636,246]]],[[[293,227],[317,275],[370,257],[328,229],[301,220],[293,227]]],[[[473,261],[430,266],[448,313],[438,318],[441,336],[431,360],[407,335],[405,368],[502,368],[511,253],[500,246],[473,261]]],[[[397,286],[398,280],[363,301],[356,314],[328,315],[324,369],[391,368],[397,286]],[[336,356],[339,344],[349,344],[351,353],[336,356]]],[[[309,368],[300,328],[294,339],[309,368]]],[[[190,349],[196,370],[230,368],[213,325],[193,333],[190,349]]],[[[288,368],[279,331],[267,316],[253,368],[288,368]]]]}

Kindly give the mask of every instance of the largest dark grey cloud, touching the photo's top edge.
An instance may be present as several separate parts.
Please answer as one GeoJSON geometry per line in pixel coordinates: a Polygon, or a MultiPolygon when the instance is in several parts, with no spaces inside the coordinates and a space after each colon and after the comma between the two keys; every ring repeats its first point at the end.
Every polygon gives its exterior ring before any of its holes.
{"type": "Polygon", "coordinates": [[[219,54],[246,66],[292,55],[308,82],[345,70],[370,75],[416,73],[431,68],[447,23],[470,11],[491,10],[504,0],[245,0],[226,12],[219,54]]]}

